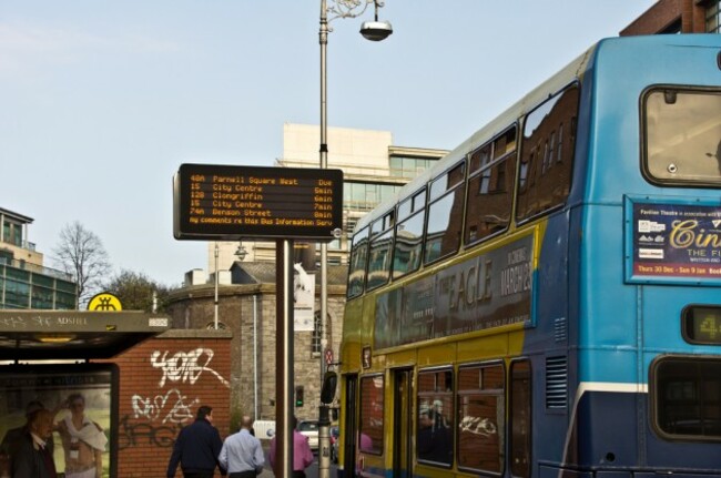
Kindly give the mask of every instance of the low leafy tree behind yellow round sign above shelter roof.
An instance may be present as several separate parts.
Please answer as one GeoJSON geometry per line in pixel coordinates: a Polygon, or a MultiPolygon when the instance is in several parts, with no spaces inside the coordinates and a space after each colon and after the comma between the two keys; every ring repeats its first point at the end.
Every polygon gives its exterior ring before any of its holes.
{"type": "Polygon", "coordinates": [[[124,311],[153,312],[153,296],[156,312],[162,312],[170,287],[162,285],[145,274],[122,269],[105,284],[105,291],[114,294],[124,311]]]}

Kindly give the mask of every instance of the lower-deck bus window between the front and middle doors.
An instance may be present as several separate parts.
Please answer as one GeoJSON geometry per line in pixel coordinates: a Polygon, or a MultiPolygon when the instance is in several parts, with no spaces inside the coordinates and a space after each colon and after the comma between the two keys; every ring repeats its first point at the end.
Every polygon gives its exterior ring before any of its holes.
{"type": "Polygon", "coordinates": [[[364,454],[383,452],[383,375],[360,378],[358,447],[364,454]]]}

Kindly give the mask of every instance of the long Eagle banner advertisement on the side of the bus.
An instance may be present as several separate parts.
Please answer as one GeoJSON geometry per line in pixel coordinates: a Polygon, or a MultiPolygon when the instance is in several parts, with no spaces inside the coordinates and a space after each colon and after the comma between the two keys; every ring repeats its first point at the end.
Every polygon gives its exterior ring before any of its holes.
{"type": "Polygon", "coordinates": [[[535,235],[378,294],[376,348],[530,323],[535,235]]]}

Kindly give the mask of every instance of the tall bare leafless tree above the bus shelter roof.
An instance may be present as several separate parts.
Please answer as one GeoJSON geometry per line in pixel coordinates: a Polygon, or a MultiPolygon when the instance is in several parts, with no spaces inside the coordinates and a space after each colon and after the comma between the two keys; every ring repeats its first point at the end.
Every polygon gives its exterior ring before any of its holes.
{"type": "Polygon", "coordinates": [[[70,274],[78,284],[78,304],[87,303],[100,292],[102,281],[110,273],[110,260],[103,243],[80,222],[67,224],[60,231],[53,250],[57,267],[70,274]]]}

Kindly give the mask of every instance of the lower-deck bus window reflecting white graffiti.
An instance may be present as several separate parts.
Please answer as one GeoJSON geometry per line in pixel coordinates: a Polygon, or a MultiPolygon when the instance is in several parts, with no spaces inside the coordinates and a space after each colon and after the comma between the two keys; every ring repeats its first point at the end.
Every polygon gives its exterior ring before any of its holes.
{"type": "Polygon", "coordinates": [[[458,370],[458,466],[501,474],[504,439],[504,366],[492,364],[458,370]]]}

